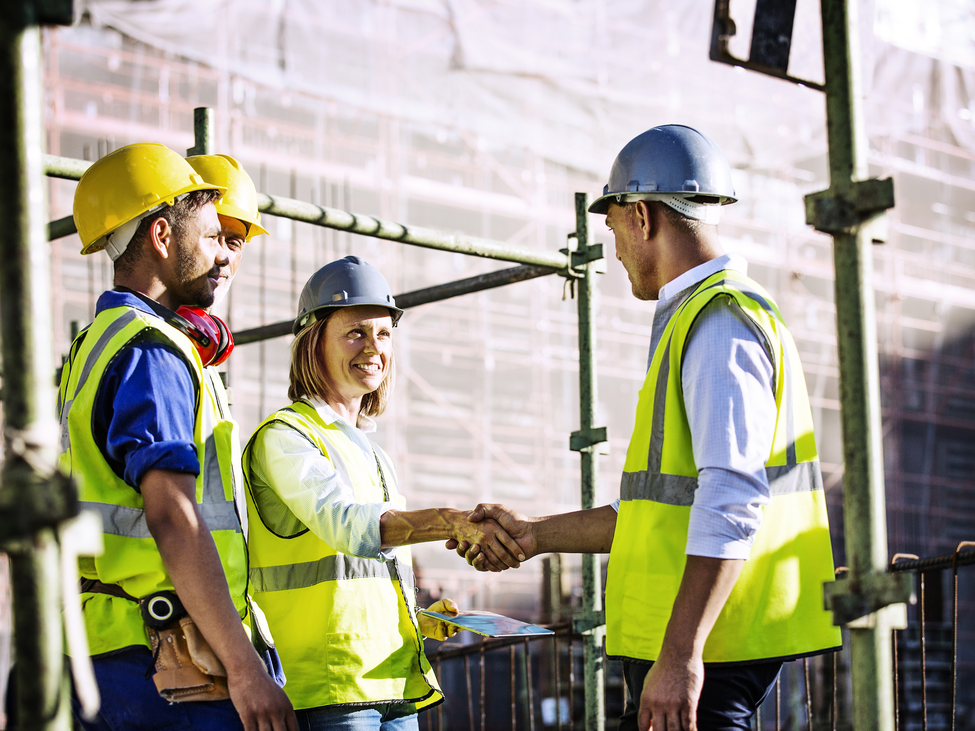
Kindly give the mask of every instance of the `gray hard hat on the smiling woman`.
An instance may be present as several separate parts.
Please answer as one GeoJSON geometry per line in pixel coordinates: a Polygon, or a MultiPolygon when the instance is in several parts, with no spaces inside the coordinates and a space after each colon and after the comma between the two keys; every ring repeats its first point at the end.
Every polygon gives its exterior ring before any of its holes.
{"type": "Polygon", "coordinates": [[[394,326],[403,316],[379,270],[357,256],[347,256],[311,275],[298,298],[298,316],[291,330],[297,335],[327,311],[356,305],[386,307],[394,326]]]}

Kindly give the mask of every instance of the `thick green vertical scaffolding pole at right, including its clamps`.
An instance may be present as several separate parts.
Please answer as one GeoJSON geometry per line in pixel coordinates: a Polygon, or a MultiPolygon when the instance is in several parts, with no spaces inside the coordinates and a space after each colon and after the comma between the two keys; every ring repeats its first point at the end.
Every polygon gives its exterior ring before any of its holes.
{"type": "MultiPolygon", "coordinates": [[[[885,238],[890,179],[868,179],[855,0],[822,0],[830,188],[806,217],[833,237],[843,429],[845,581],[826,586],[834,622],[850,630],[853,728],[893,731],[891,629],[906,620],[907,575],[887,574],[880,380],[871,244],[885,238]]],[[[909,578],[909,577],[908,577],[909,578]]]]}

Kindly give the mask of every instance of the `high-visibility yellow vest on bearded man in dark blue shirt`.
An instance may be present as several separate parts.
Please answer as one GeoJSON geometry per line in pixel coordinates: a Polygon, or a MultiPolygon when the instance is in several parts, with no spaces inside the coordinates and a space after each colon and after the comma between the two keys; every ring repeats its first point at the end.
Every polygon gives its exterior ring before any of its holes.
{"type": "MultiPolygon", "coordinates": [[[[237,424],[227,412],[223,384],[214,369],[203,367],[185,335],[160,318],[132,307],[114,307],[98,313],[72,343],[61,374],[58,464],[77,481],[81,509],[101,516],[105,543],[101,556],[79,560],[81,576],[116,584],[137,599],[174,590],[146,525],[142,495],[115,474],[92,437],[95,398],[105,369],[134,338],[150,330],[182,355],[198,387],[193,427],[200,460],[196,501],[220,554],[234,606],[244,618],[247,549],[235,505],[235,493],[243,493],[240,441],[237,424]]],[[[135,602],[86,593],[82,595],[82,606],[92,655],[133,645],[149,646],[135,602]]]]}

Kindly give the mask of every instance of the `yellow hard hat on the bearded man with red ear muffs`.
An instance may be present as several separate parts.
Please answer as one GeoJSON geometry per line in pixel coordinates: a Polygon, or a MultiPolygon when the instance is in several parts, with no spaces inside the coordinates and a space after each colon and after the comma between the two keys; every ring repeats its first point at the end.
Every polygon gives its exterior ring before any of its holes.
{"type": "MultiPolygon", "coordinates": [[[[140,142],[120,147],[96,161],[78,181],[74,193],[74,222],[81,237],[81,253],[93,254],[105,248],[106,239],[127,223],[195,190],[226,191],[222,185],[206,182],[183,157],[165,145],[140,142]]],[[[131,228],[131,227],[130,227],[131,228]]],[[[128,238],[110,251],[118,258],[128,238]]]]}

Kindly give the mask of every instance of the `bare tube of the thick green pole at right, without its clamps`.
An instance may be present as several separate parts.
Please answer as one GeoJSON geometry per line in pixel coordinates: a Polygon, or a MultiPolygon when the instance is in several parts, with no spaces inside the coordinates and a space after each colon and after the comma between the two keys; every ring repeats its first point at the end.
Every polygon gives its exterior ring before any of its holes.
{"type": "MultiPolygon", "coordinates": [[[[822,0],[821,7],[830,192],[839,201],[852,202],[857,199],[857,183],[868,177],[857,3],[822,0]]],[[[856,587],[887,568],[873,261],[871,239],[862,219],[845,231],[832,233],[847,580],[856,587]]],[[[858,731],[893,729],[890,629],[887,608],[850,628],[853,727],[858,731]]]]}

